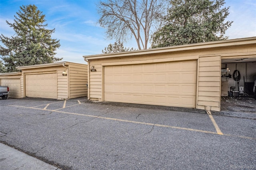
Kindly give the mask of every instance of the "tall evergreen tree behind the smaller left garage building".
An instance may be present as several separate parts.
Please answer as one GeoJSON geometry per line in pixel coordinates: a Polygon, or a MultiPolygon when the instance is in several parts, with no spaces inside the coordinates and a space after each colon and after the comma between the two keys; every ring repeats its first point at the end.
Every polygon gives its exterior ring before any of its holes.
{"type": "Polygon", "coordinates": [[[62,60],[54,57],[60,40],[52,39],[55,29],[46,29],[45,15],[35,5],[21,6],[14,16],[14,23],[6,21],[13,28],[14,36],[1,34],[0,55],[8,72],[17,71],[17,66],[53,63],[62,60]]]}

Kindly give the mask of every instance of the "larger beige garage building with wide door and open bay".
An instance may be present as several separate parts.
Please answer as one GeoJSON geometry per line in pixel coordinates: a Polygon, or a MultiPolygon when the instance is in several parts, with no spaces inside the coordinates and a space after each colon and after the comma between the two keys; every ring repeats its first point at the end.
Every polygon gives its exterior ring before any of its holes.
{"type": "Polygon", "coordinates": [[[83,57],[90,100],[220,111],[222,67],[246,59],[256,72],[256,37],[83,57]]]}

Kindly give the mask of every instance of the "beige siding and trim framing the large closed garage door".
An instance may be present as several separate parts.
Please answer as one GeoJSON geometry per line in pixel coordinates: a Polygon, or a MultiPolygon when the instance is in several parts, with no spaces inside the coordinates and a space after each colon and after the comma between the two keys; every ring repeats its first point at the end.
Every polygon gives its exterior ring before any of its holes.
{"type": "Polygon", "coordinates": [[[198,60],[196,108],[205,109],[205,106],[211,106],[211,110],[220,111],[221,58],[256,55],[255,38],[245,41],[248,41],[248,44],[243,40],[241,42],[220,42],[218,46],[212,42],[212,44],[204,43],[206,46],[198,49],[192,49],[193,45],[184,45],[182,50],[179,50],[181,47],[177,46],[176,48],[159,48],[155,51],[150,49],[148,51],[88,56],[86,59],[89,61],[89,67],[94,65],[97,70],[89,72],[90,91],[88,97],[91,100],[102,101],[104,99],[104,77],[102,77],[104,72],[102,70],[106,66],[198,60]]]}

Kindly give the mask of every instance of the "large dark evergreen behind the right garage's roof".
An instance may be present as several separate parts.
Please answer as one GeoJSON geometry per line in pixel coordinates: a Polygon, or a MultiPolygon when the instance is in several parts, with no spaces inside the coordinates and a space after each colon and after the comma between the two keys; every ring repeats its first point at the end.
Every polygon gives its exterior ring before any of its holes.
{"type": "Polygon", "coordinates": [[[228,8],[224,0],[170,0],[163,26],[152,36],[152,47],[226,40],[232,22],[224,20],[228,8]]]}

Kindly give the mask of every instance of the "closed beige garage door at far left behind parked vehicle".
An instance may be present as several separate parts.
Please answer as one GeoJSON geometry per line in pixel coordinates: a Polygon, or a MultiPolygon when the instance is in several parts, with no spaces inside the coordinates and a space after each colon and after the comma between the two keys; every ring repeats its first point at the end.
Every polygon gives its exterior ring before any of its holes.
{"type": "Polygon", "coordinates": [[[9,87],[8,97],[21,97],[20,79],[1,79],[1,85],[9,87]]]}

